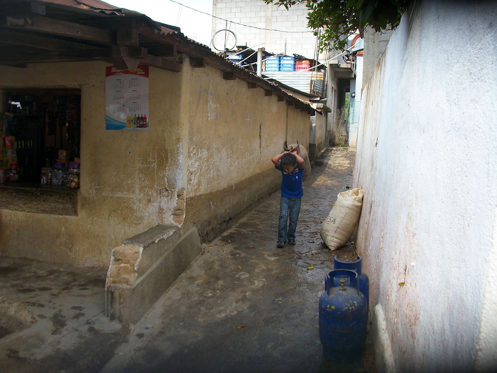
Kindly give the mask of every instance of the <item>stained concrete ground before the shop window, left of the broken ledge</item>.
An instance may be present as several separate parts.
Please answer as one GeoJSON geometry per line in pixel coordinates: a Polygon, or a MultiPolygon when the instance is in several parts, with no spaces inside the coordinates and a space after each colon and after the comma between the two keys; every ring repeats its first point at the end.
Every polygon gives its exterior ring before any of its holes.
{"type": "Polygon", "coordinates": [[[0,259],[0,372],[97,372],[127,335],[106,270],[0,259]]]}

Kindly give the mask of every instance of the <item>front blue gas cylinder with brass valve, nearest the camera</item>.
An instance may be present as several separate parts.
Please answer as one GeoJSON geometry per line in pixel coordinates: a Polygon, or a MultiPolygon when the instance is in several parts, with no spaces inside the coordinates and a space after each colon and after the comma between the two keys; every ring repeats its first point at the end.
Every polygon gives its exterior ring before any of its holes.
{"type": "Polygon", "coordinates": [[[366,297],[359,291],[355,271],[333,270],[327,277],[325,291],[319,298],[319,339],[323,353],[335,362],[352,362],[361,357],[366,345],[366,297]],[[338,286],[334,284],[335,278],[339,279],[338,286]]]}

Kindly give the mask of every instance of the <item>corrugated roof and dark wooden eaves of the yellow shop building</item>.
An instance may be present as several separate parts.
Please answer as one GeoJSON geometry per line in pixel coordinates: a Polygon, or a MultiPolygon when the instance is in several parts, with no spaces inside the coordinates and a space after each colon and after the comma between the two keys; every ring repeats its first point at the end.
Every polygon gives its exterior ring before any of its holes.
{"type": "MultiPolygon", "coordinates": [[[[5,1],[5,0],[3,0],[5,1]]],[[[7,0],[9,3],[21,3],[25,2],[24,0],[7,0]]],[[[168,28],[169,25],[162,24],[160,22],[156,22],[152,20],[151,18],[147,17],[144,14],[134,12],[131,10],[127,9],[120,9],[120,8],[115,8],[113,5],[110,5],[104,1],[100,0],[28,0],[28,3],[38,3],[38,4],[46,4],[47,8],[50,6],[53,9],[59,10],[58,12],[52,12],[52,16],[56,17],[55,20],[58,18],[67,20],[68,16],[74,16],[77,14],[78,16],[75,17],[74,19],[71,18],[71,22],[74,24],[79,24],[82,20],[85,25],[92,25],[91,21],[92,19],[95,19],[98,21],[98,23],[95,25],[93,24],[93,27],[100,29],[100,31],[111,31],[109,29],[105,28],[105,21],[104,19],[109,17],[114,18],[116,17],[117,19],[123,19],[124,16],[128,15],[131,17],[137,17],[146,23],[146,27],[139,31],[140,33],[145,32],[145,37],[144,40],[148,44],[153,45],[175,45],[177,47],[177,50],[179,53],[186,54],[194,59],[205,59],[207,63],[211,64],[213,67],[223,71],[223,73],[230,73],[232,74],[232,78],[238,78],[242,80],[246,80],[250,84],[253,84],[255,86],[258,86],[268,92],[272,92],[274,94],[278,94],[281,96],[285,96],[287,101],[293,102],[297,107],[304,109],[309,112],[314,112],[314,108],[312,108],[309,104],[303,102],[302,100],[299,100],[296,97],[293,97],[292,95],[288,94],[284,90],[281,89],[280,86],[278,86],[276,83],[268,81],[268,80],[263,80],[260,77],[258,77],[255,73],[249,72],[248,70],[241,68],[239,66],[235,66],[229,61],[225,60],[222,56],[212,52],[210,48],[206,45],[203,45],[201,43],[198,43],[188,37],[186,37],[183,33],[180,32],[179,28],[176,28],[174,26],[170,26],[171,28],[168,28]],[[57,18],[58,17],[58,18],[57,18]],[[103,22],[102,22],[103,21],[103,22]],[[148,27],[148,28],[147,28],[148,27]],[[175,29],[174,29],[175,28],[175,29]],[[154,33],[154,29],[155,32],[154,33]],[[148,33],[146,33],[148,32],[148,33]],[[150,39],[150,40],[149,40],[150,39]]],[[[52,9],[52,10],[53,10],[52,9]]],[[[123,26],[128,27],[129,25],[127,23],[123,23],[123,26]]],[[[13,30],[16,30],[17,28],[20,28],[22,26],[19,25],[12,25],[11,26],[13,30]]],[[[30,31],[27,30],[27,33],[31,32],[33,34],[33,37],[40,37],[40,35],[37,34],[37,30],[30,31]]],[[[113,32],[113,31],[111,31],[113,32]]],[[[44,34],[50,34],[50,31],[45,31],[44,34]]],[[[106,35],[111,35],[110,33],[105,33],[105,32],[100,32],[100,35],[106,36],[106,35]]],[[[99,43],[98,40],[93,40],[91,38],[82,38],[80,34],[76,35],[74,33],[68,32],[67,34],[64,33],[56,33],[58,35],[59,39],[58,41],[64,41],[64,42],[70,42],[70,43],[82,43],[83,46],[88,46],[90,54],[82,54],[81,58],[82,60],[89,59],[89,60],[95,60],[95,59],[101,59],[102,61],[109,61],[112,60],[114,61],[117,57],[113,57],[107,54],[107,49],[109,46],[109,40],[110,44],[113,45],[115,41],[112,40],[111,37],[108,37],[104,42],[99,43]],[[64,39],[65,37],[65,39],[64,39]],[[88,43],[88,44],[84,44],[88,43]],[[104,53],[105,52],[105,53],[104,53]]],[[[1,43],[0,43],[1,44],[1,43]]],[[[150,45],[147,45],[147,48],[149,48],[150,45]]],[[[32,48],[32,47],[29,47],[32,48]]],[[[123,47],[126,49],[126,47],[123,47]]],[[[49,48],[50,49],[50,48],[49,48]]],[[[66,49],[63,49],[63,51],[66,51],[66,49]]],[[[66,55],[57,55],[56,59],[57,61],[62,61],[67,60],[67,61],[77,61],[78,60],[78,53],[79,51],[82,51],[81,48],[74,48],[74,50],[71,50],[67,56],[66,55]]],[[[25,63],[31,63],[33,61],[35,62],[51,62],[54,58],[50,54],[51,51],[48,53],[45,53],[44,51],[38,51],[37,53],[30,53],[26,52],[24,53],[18,53],[14,57],[18,57],[17,61],[19,64],[25,64],[25,63]],[[26,62],[27,61],[27,62],[26,62]]],[[[84,50],[84,52],[88,52],[88,50],[84,50]]],[[[160,61],[162,57],[150,55],[152,57],[157,57],[159,58],[160,61]]],[[[145,57],[145,60],[148,57],[145,57]]],[[[118,59],[118,58],[117,58],[118,59]]],[[[122,62],[122,61],[121,61],[122,62]]],[[[9,65],[12,63],[15,63],[15,59],[11,58],[8,61],[9,65]]],[[[146,62],[145,62],[146,63],[146,62]]],[[[162,61],[164,65],[161,65],[158,63],[158,65],[161,66],[166,66],[166,67],[161,67],[161,68],[166,68],[166,69],[172,69],[171,71],[178,71],[177,66],[179,65],[178,62],[175,61],[169,61],[165,60],[162,61]],[[170,62],[170,64],[167,64],[166,62],[170,62]]],[[[229,78],[227,78],[229,79],[229,78]]],[[[253,87],[255,88],[255,87],[253,87]]]]}

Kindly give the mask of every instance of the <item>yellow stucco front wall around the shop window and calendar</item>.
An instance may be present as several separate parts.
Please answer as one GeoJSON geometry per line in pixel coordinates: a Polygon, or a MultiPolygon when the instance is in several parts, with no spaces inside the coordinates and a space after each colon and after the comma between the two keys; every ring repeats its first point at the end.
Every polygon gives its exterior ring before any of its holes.
{"type": "Polygon", "coordinates": [[[181,184],[181,75],[150,68],[150,130],[105,130],[101,62],[3,67],[1,89],[81,89],[79,216],[1,209],[0,255],[108,266],[110,251],[157,224],[170,223],[181,184]]]}

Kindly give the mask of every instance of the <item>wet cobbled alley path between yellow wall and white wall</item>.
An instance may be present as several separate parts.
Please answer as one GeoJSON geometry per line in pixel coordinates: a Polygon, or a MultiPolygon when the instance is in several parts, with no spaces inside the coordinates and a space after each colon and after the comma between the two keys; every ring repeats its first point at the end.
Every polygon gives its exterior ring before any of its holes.
{"type": "MultiPolygon", "coordinates": [[[[355,152],[333,148],[304,183],[297,245],[276,248],[279,191],[210,242],[103,372],[329,372],[318,299],[333,255],[319,229],[350,186],[355,152]]],[[[275,171],[276,172],[276,171],[275,171]]],[[[369,351],[341,372],[374,372],[369,351]]]]}

